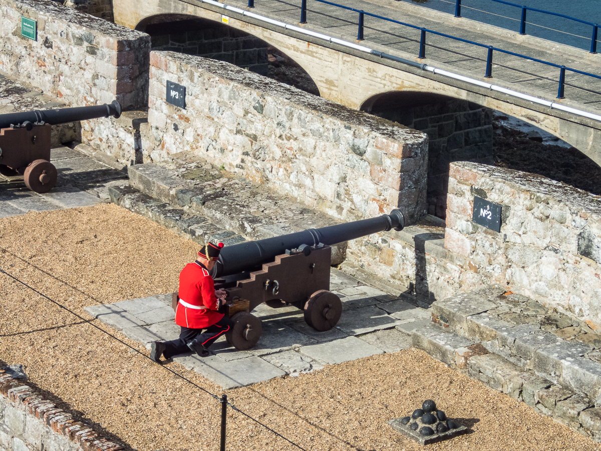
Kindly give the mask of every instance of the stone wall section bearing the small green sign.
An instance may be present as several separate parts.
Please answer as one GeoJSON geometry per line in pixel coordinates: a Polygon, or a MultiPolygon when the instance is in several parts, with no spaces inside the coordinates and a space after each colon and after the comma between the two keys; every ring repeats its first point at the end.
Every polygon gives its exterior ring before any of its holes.
{"type": "Polygon", "coordinates": [[[0,0],[0,71],[71,106],[147,103],[150,38],[50,0],[0,0]],[[21,36],[21,16],[37,40],[21,36]]]}

